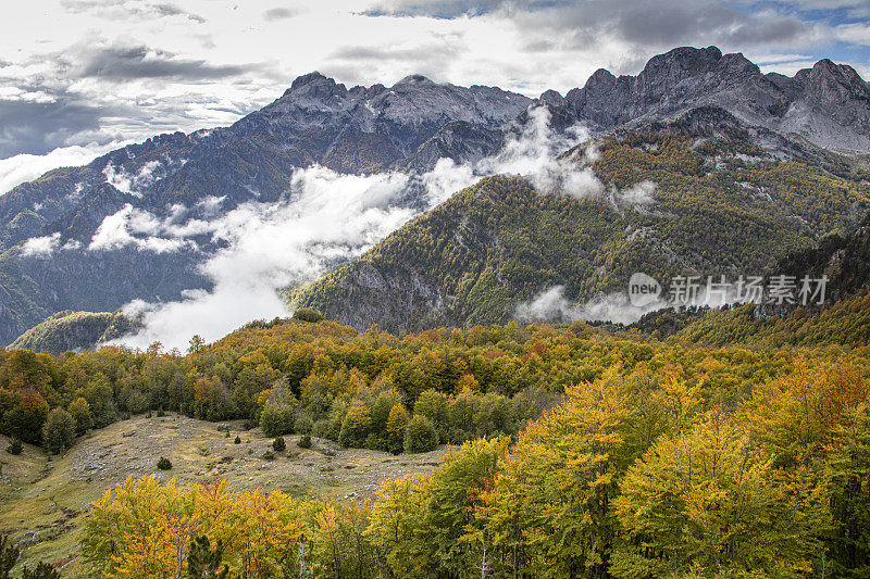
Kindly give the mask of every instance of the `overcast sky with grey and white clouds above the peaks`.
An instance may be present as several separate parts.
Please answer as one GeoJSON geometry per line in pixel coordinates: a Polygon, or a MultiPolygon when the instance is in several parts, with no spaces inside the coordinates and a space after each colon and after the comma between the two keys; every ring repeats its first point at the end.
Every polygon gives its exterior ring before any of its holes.
{"type": "Polygon", "coordinates": [[[3,12],[2,191],[157,133],[229,124],[313,70],[538,96],[716,45],[766,72],[831,58],[870,78],[870,0],[30,0],[3,12]]]}

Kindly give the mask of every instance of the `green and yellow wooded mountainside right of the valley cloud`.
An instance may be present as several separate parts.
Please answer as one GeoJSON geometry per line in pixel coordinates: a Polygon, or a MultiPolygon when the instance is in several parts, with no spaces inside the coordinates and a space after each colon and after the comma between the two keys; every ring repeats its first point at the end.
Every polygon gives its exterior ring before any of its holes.
{"type": "Polygon", "coordinates": [[[776,159],[721,121],[704,129],[699,115],[728,117],[694,111],[659,131],[574,149],[567,159],[576,171],[596,151],[598,196],[484,179],[302,288],[293,303],[362,329],[501,323],[557,286],[585,302],[624,291],[634,272],[666,285],[675,275],[763,273],[870,209],[863,174],[776,159]],[[638,202],[644,182],[655,184],[647,185],[654,199],[638,202]]]}

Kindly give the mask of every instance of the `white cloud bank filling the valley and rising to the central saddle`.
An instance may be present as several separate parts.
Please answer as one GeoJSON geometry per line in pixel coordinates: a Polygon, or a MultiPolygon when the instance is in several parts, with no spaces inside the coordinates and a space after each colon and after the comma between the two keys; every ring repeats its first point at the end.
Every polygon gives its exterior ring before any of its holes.
{"type": "MultiPolygon", "coordinates": [[[[282,201],[247,203],[212,218],[186,219],[184,207],[159,218],[125,206],[103,219],[89,249],[132,246],[141,251],[179,251],[195,248],[192,238],[208,236],[222,248],[200,265],[200,272],[213,281],[212,290],[188,292],[177,302],[134,304],[145,312],[145,327],[122,341],[145,348],[159,340],[181,348],[192,333],[211,341],[251,319],[287,315],[278,289],[314,279],[362,254],[483,176],[525,175],[542,193],[600,193],[600,181],[583,160],[559,159],[586,137],[580,128],[569,134],[554,131],[548,111],[533,109],[529,122],[517,127],[498,154],[474,165],[442,159],[422,175],[366,176],[315,165],[296,171],[282,201]],[[422,190],[422,204],[409,202],[409,192],[414,190],[422,190]]],[[[220,201],[210,203],[220,205],[220,201]]]]}

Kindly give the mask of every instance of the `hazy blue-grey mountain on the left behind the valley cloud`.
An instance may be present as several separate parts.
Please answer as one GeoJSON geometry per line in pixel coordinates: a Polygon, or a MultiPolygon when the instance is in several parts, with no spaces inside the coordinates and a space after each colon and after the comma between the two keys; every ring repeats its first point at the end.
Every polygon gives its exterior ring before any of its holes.
{"type": "MultiPolygon", "coordinates": [[[[117,239],[95,244],[107,219],[201,225],[244,203],[285,200],[294,172],[312,164],[359,173],[476,160],[500,147],[501,127],[529,102],[420,76],[348,89],[312,73],[231,127],[161,135],[23,184],[0,196],[0,342],[57,311],[114,311],[211,288],[199,266],[221,240],[153,238],[112,222],[117,239]]],[[[419,205],[419,191],[403,203],[419,205]]]]}

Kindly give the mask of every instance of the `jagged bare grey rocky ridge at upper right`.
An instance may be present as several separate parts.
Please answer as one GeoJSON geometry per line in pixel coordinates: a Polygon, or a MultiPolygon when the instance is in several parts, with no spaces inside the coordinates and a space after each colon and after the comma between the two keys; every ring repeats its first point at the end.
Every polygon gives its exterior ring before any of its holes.
{"type": "Polygon", "coordinates": [[[716,47],[678,48],[650,59],[637,76],[617,78],[599,70],[566,101],[547,104],[568,109],[598,131],[721,106],[748,125],[822,149],[870,149],[867,83],[850,66],[829,60],[788,78],[761,74],[743,54],[722,54],[716,47]]]}

